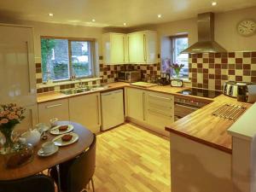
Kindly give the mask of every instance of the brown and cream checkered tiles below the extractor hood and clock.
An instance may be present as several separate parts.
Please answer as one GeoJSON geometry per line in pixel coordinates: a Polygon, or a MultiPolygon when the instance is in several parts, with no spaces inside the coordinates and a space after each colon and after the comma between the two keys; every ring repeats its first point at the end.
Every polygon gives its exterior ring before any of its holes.
{"type": "Polygon", "coordinates": [[[189,55],[192,86],[222,90],[225,81],[256,83],[256,52],[189,55]]]}

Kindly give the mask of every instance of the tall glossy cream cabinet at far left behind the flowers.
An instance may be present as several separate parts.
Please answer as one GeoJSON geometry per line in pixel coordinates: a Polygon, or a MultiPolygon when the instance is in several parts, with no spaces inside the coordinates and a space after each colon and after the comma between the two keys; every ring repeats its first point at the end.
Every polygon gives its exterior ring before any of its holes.
{"type": "Polygon", "coordinates": [[[0,24],[0,55],[0,104],[26,108],[26,118],[17,125],[26,131],[38,123],[32,27],[0,24]]]}

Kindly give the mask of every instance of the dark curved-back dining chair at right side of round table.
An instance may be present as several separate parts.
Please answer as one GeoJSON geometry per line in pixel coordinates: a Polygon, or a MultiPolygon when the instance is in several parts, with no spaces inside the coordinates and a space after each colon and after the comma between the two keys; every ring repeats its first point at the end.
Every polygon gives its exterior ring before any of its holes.
{"type": "MultiPolygon", "coordinates": [[[[94,134],[93,142],[90,148],[80,154],[73,160],[61,163],[59,165],[61,177],[61,191],[63,192],[80,192],[87,184],[92,184],[94,189],[93,175],[96,168],[96,135],[94,134]]],[[[57,170],[52,168],[49,175],[55,179],[57,183],[57,170]]]]}

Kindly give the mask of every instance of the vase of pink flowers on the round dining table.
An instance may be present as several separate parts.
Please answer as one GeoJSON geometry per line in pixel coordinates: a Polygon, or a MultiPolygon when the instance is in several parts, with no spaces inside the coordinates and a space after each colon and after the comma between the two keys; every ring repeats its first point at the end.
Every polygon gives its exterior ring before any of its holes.
{"type": "Polygon", "coordinates": [[[10,103],[2,105],[0,109],[0,131],[5,137],[5,143],[3,144],[3,150],[1,154],[8,154],[12,151],[14,142],[12,140],[12,133],[15,129],[15,125],[20,124],[21,120],[25,117],[23,113],[25,108],[17,107],[16,104],[10,103]]]}

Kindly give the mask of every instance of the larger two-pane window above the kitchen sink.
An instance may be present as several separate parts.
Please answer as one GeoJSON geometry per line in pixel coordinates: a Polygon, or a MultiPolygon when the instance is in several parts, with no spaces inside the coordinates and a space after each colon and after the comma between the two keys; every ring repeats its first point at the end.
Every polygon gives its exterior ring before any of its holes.
{"type": "Polygon", "coordinates": [[[89,78],[94,75],[93,41],[41,38],[43,82],[89,78]]]}

